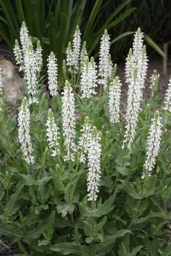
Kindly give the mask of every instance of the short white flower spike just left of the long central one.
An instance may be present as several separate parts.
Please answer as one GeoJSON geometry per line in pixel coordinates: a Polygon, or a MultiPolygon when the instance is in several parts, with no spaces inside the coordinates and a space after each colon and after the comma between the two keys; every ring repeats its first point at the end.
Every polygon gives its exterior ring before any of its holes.
{"type": "Polygon", "coordinates": [[[54,122],[54,115],[51,110],[48,112],[48,119],[46,122],[46,136],[48,137],[47,141],[49,141],[49,149],[51,149],[51,156],[55,157],[57,154],[60,154],[59,150],[59,128],[57,124],[54,122]]]}

